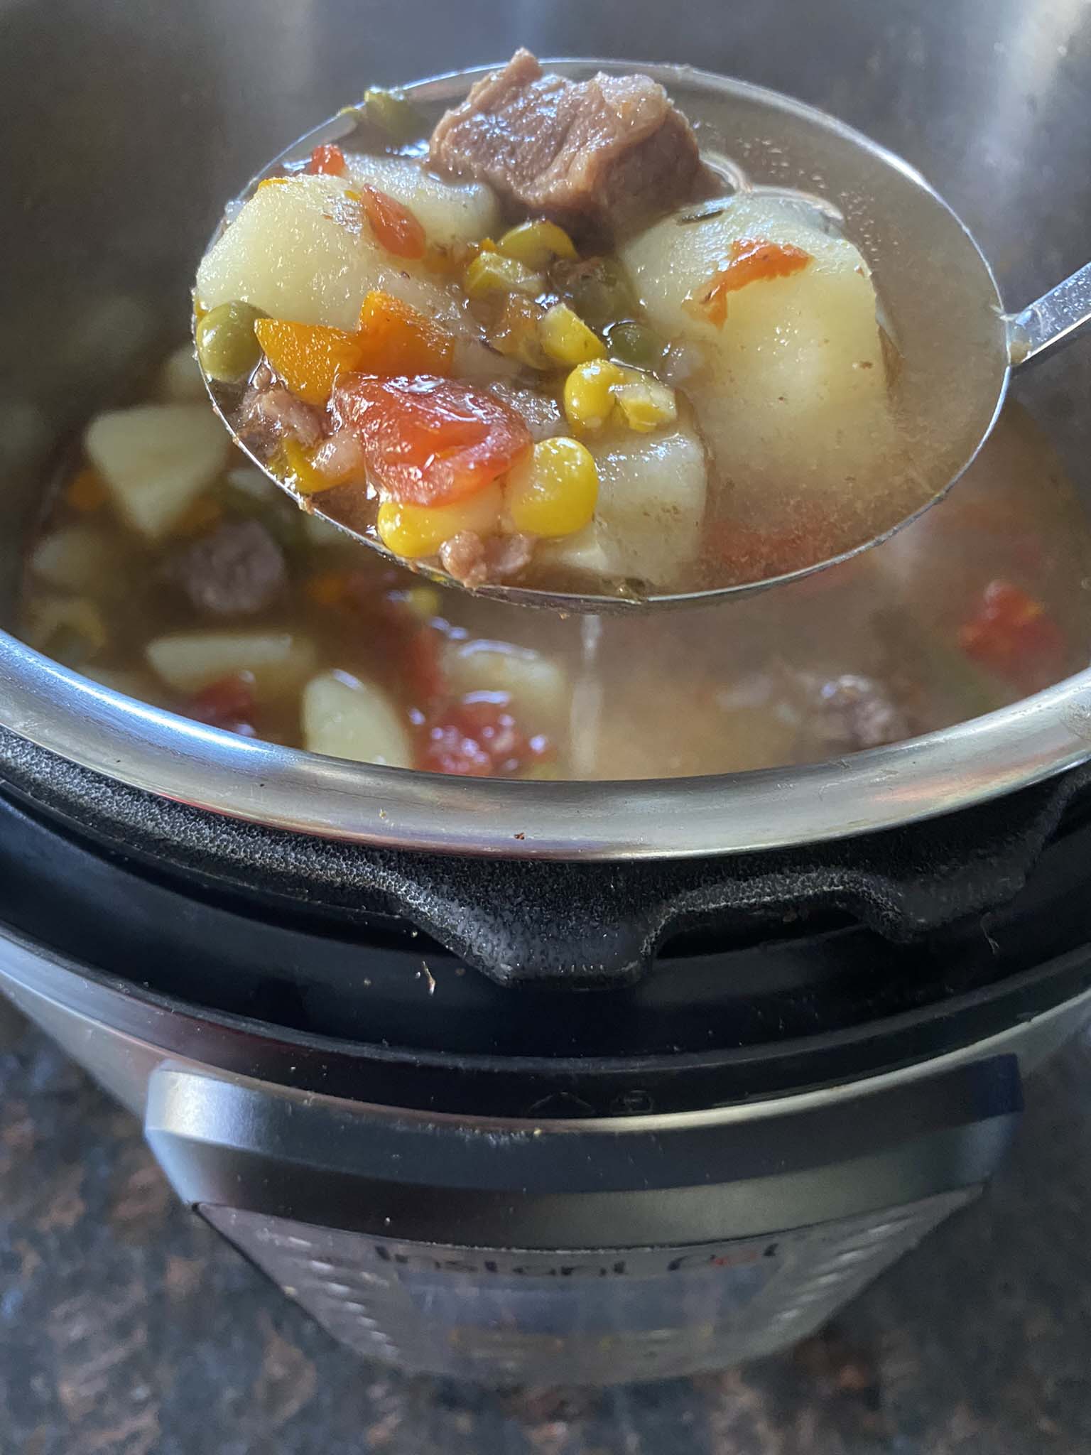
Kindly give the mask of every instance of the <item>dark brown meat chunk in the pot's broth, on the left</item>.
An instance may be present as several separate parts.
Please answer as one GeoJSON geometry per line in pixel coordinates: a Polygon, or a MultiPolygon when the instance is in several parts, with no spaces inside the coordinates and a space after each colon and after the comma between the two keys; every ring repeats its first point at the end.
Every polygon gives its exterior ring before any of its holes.
{"type": "Polygon", "coordinates": [[[228,521],[186,547],[170,576],[198,611],[209,617],[246,617],[271,605],[284,591],[284,551],[260,521],[228,521]]]}

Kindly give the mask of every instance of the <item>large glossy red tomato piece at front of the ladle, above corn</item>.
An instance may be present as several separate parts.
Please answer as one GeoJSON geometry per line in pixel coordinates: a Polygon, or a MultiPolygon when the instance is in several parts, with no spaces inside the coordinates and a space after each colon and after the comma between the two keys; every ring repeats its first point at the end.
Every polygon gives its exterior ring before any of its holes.
{"type": "Polygon", "coordinates": [[[359,434],[378,489],[409,505],[448,505],[483,490],[531,448],[527,422],[495,394],[451,378],[358,378],[333,394],[359,434]]]}

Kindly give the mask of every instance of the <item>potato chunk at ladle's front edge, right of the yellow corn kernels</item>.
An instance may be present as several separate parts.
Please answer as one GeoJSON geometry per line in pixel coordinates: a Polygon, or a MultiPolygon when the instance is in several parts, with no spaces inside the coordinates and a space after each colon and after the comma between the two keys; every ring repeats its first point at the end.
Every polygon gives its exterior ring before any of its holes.
{"type": "Polygon", "coordinates": [[[707,495],[704,448],[687,425],[588,439],[598,467],[595,518],[546,547],[556,565],[669,586],[697,557],[707,495]]]}

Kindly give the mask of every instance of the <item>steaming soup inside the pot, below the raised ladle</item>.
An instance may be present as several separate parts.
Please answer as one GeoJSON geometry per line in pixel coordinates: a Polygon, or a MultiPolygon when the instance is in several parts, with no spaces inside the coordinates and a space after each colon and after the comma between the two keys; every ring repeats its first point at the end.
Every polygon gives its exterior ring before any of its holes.
{"type": "Polygon", "coordinates": [[[1015,406],[938,509],[861,557],[700,611],[563,620],[422,582],[297,509],[231,445],[189,345],[147,394],[57,480],[17,630],[217,728],[452,774],[668,777],[893,742],[1087,662],[1088,524],[1015,406]]]}

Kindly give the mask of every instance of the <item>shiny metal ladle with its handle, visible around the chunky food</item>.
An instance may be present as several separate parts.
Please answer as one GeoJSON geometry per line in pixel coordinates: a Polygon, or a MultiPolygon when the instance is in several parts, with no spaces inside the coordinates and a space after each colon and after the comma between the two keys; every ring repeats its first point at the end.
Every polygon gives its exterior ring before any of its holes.
{"type": "MultiPolygon", "coordinates": [[[[896,324],[899,349],[906,356],[915,352],[915,356],[928,361],[912,406],[916,416],[925,420],[944,416],[950,448],[941,471],[937,471],[935,489],[931,490],[930,480],[930,493],[903,519],[871,540],[786,575],[662,595],[578,594],[502,583],[476,588],[476,595],[596,615],[649,607],[708,605],[720,598],[743,597],[797,581],[847,560],[886,540],[943,499],[988,439],[1012,371],[1071,342],[1091,320],[1091,263],[1021,311],[1007,313],[985,255],[956,212],[909,163],[826,112],[777,92],[691,67],[605,60],[544,64],[573,79],[595,71],[643,71],[659,80],[687,112],[703,147],[733,159],[754,185],[762,191],[818,195],[834,204],[832,211],[839,215],[845,236],[861,249],[873,269],[883,311],[896,324]],[[967,386],[970,377],[973,387],[967,386]]],[[[406,87],[406,95],[431,122],[492,70],[495,67],[489,65],[419,81],[406,87]]],[[[343,141],[355,131],[356,121],[351,115],[333,116],[273,159],[250,182],[239,202],[249,198],[266,176],[282,173],[291,163],[305,159],[313,147],[343,141]]],[[[231,429],[211,384],[209,394],[231,429]]],[[[276,486],[300,499],[244,441],[236,436],[236,442],[276,486]]],[[[326,515],[320,495],[308,498],[307,509],[390,562],[404,565],[375,537],[326,515]]],[[[439,567],[415,563],[413,569],[441,585],[458,585],[439,567]]]]}

